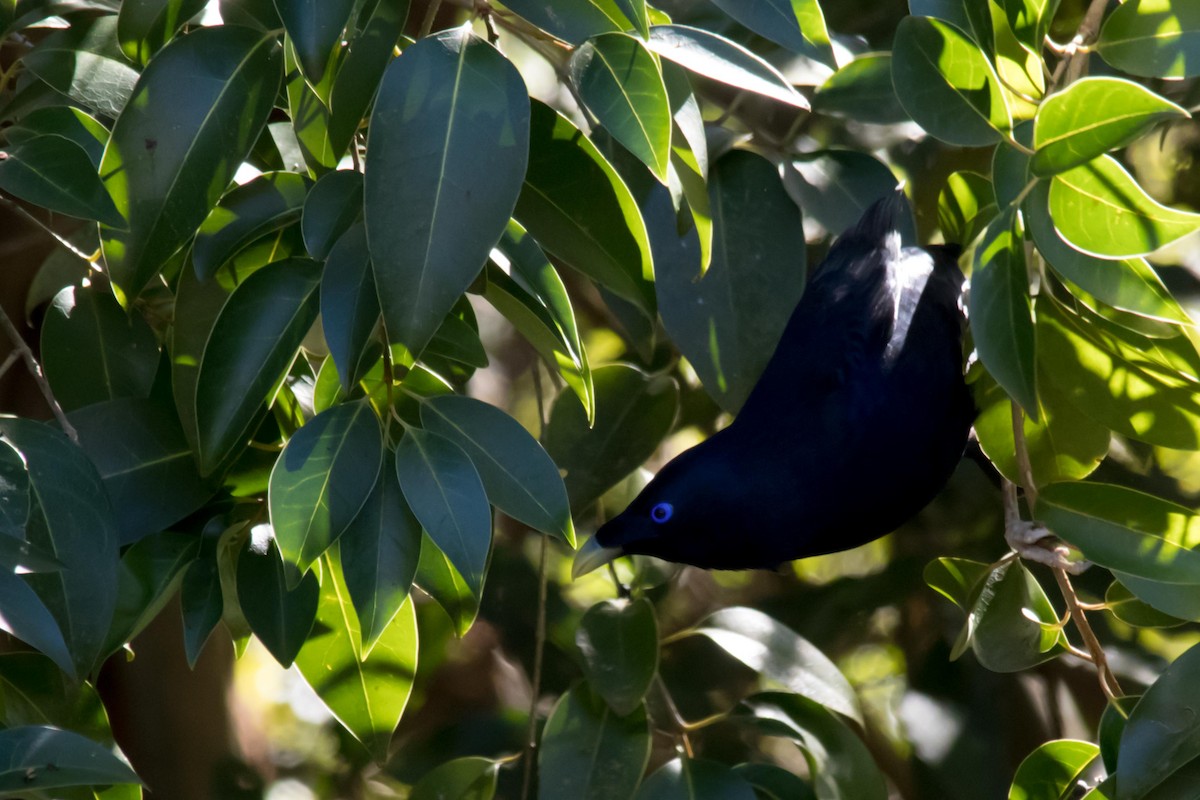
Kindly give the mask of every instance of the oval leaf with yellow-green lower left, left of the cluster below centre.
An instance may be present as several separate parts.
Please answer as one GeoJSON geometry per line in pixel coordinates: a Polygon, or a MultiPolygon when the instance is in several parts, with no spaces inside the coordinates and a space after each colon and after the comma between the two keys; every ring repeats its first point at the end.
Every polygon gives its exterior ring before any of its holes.
{"type": "Polygon", "coordinates": [[[322,411],[288,440],[271,470],[268,503],[280,552],[296,566],[289,588],[358,516],[382,459],[379,420],[366,401],[322,411]]]}

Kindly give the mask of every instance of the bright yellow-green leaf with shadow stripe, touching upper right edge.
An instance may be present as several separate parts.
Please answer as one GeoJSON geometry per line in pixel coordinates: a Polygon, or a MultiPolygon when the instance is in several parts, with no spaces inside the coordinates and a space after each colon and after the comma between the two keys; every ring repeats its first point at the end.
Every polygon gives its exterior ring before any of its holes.
{"type": "Polygon", "coordinates": [[[1200,230],[1200,213],[1156,201],[1111,156],[1055,175],[1049,207],[1063,240],[1099,258],[1146,255],[1200,230]]]}

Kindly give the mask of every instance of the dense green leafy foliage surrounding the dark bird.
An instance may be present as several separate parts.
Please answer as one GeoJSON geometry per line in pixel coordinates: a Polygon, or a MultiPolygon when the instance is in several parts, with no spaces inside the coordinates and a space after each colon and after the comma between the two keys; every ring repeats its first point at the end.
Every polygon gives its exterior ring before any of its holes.
{"type": "Polygon", "coordinates": [[[0,417],[5,796],[143,795],[95,687],[162,614],[182,642],[136,657],[295,666],[348,734],[284,770],[325,796],[1200,792],[1200,6],[5,0],[0,28],[0,190],[58,242],[38,347],[0,318],[53,413],[0,417]],[[1001,487],[964,463],[779,575],[572,584],[577,535],[737,413],[805,264],[901,179],[905,237],[965,246],[1001,487]],[[1018,515],[1091,570],[1006,554],[1018,515]]]}

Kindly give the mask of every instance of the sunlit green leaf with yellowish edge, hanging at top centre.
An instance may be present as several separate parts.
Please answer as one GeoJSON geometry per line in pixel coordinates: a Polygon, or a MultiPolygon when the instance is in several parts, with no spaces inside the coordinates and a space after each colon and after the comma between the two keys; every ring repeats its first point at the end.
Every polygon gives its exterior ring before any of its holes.
{"type": "Polygon", "coordinates": [[[617,142],[667,182],[671,107],[654,56],[624,34],[602,34],[571,55],[571,82],[617,142]]]}

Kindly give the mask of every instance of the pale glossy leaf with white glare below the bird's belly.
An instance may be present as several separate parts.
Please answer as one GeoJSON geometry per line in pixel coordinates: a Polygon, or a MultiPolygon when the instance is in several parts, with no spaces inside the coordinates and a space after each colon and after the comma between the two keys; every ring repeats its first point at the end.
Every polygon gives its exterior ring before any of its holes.
{"type": "Polygon", "coordinates": [[[823,652],[790,627],[754,608],[724,608],[694,630],[731,656],[792,692],[863,721],[850,681],[823,652]]]}

